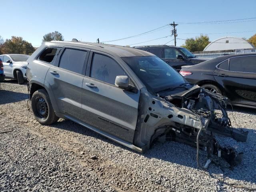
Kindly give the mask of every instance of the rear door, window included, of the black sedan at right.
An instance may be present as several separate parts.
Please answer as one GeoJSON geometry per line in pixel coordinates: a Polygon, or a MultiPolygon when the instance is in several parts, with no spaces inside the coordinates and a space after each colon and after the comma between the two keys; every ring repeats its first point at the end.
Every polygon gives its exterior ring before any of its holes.
{"type": "Polygon", "coordinates": [[[236,104],[256,105],[256,56],[237,56],[214,71],[228,98],[236,104]]]}

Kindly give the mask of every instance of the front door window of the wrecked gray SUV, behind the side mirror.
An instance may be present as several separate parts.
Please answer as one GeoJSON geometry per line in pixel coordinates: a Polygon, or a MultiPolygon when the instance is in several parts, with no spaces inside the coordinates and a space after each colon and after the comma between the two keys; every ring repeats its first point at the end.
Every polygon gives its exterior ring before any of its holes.
{"type": "Polygon", "coordinates": [[[112,58],[94,53],[91,68],[92,78],[114,85],[118,75],[127,74],[112,58]]]}

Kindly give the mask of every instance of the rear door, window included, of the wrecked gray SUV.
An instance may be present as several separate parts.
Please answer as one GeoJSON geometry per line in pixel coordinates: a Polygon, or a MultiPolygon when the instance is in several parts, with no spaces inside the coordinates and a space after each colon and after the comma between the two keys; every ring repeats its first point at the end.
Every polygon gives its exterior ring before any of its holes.
{"type": "Polygon", "coordinates": [[[90,50],[64,47],[46,81],[50,84],[60,113],[81,119],[82,83],[90,50]]]}

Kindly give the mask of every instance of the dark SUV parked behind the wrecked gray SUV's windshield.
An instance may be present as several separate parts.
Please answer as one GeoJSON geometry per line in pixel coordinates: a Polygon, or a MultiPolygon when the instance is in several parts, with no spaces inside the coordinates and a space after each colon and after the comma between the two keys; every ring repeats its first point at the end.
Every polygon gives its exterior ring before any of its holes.
{"type": "Polygon", "coordinates": [[[194,56],[189,50],[184,47],[168,46],[168,45],[149,45],[149,46],[135,46],[133,48],[150,52],[176,70],[180,70],[184,65],[195,65],[206,60],[208,58],[198,58],[194,56]]]}

